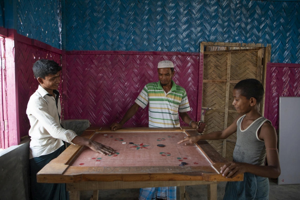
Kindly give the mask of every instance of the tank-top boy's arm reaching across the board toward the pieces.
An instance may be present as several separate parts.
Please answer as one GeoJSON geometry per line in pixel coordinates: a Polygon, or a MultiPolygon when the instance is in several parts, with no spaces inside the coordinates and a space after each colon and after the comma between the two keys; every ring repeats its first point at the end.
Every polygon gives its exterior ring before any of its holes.
{"type": "Polygon", "coordinates": [[[197,135],[197,136],[187,136],[184,139],[180,140],[178,142],[178,144],[183,143],[185,141],[187,141],[185,143],[185,145],[189,145],[189,144],[193,144],[198,142],[199,140],[213,140],[213,139],[226,139],[228,138],[231,134],[233,134],[234,132],[236,132],[237,129],[237,121],[238,119],[243,116],[243,115],[239,115],[234,122],[228,126],[225,130],[222,131],[216,131],[216,132],[212,132],[209,134],[204,134],[204,135],[197,135]]]}

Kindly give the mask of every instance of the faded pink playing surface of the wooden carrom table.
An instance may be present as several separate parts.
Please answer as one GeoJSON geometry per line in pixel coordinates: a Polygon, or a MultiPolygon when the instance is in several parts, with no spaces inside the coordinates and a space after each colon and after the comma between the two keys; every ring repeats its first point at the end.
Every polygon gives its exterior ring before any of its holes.
{"type": "Polygon", "coordinates": [[[187,136],[182,132],[101,132],[93,140],[115,149],[114,155],[104,156],[83,147],[71,166],[207,166],[211,163],[193,144],[185,146],[178,141],[187,136]],[[107,134],[107,135],[106,135],[107,134]],[[122,144],[126,142],[126,144],[122,144]],[[133,144],[130,144],[133,143],[133,144]],[[158,147],[164,144],[165,147],[158,147]]]}

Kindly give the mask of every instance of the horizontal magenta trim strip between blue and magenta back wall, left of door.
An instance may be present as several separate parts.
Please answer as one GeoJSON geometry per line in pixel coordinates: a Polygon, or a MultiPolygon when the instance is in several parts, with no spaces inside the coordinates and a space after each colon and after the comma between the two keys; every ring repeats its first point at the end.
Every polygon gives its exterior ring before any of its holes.
{"type": "Polygon", "coordinates": [[[183,55],[199,56],[198,52],[160,52],[160,51],[66,51],[67,55],[75,54],[123,54],[123,55],[183,55]]]}

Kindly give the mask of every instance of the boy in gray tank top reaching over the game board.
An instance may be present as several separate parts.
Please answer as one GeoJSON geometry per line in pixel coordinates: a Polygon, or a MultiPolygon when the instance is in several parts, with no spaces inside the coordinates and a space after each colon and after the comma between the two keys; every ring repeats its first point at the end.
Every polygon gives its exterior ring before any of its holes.
{"type": "Polygon", "coordinates": [[[261,116],[259,103],[264,94],[256,79],[241,80],[234,86],[234,105],[239,116],[223,131],[188,136],[178,143],[185,145],[198,140],[226,139],[237,132],[233,161],[221,167],[220,173],[234,178],[244,173],[243,181],[227,182],[224,199],[269,199],[269,180],[280,175],[277,134],[271,122],[261,116]],[[267,158],[268,166],[264,166],[267,158]]]}

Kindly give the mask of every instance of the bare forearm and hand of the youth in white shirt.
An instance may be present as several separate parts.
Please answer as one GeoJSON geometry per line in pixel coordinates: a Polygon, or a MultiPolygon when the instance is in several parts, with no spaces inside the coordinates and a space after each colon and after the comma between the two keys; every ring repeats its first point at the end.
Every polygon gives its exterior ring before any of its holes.
{"type": "Polygon", "coordinates": [[[80,137],[80,136],[76,136],[71,142],[74,144],[77,144],[77,145],[87,146],[90,149],[92,149],[94,152],[98,152],[103,155],[113,154],[115,152],[115,150],[113,150],[112,148],[110,148],[108,146],[105,146],[94,140],[87,139],[87,138],[80,137]]]}

